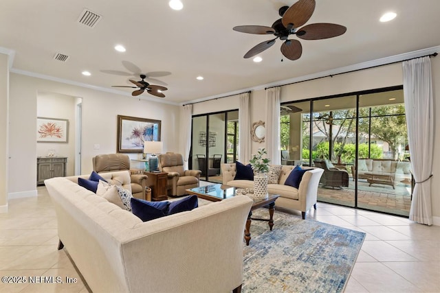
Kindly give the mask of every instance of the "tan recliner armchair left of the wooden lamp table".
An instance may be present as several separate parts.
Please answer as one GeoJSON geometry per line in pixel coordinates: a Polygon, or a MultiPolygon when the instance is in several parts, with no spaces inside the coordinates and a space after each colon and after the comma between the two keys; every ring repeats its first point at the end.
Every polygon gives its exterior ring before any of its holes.
{"type": "Polygon", "coordinates": [[[145,198],[146,178],[142,169],[130,169],[130,158],[126,154],[98,154],[92,158],[96,173],[129,170],[131,179],[131,194],[135,198],[145,198]]]}

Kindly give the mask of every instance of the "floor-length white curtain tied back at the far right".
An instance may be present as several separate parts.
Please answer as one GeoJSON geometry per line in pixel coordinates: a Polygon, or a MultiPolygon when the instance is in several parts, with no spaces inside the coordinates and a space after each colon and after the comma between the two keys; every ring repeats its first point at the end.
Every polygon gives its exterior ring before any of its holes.
{"type": "Polygon", "coordinates": [[[410,220],[432,225],[431,180],[434,138],[431,62],[429,57],[403,62],[408,146],[415,188],[410,220]]]}

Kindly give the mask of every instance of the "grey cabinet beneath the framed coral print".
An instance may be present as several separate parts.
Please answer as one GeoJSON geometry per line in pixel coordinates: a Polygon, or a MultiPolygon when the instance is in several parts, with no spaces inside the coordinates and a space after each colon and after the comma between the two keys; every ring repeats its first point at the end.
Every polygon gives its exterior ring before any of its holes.
{"type": "Polygon", "coordinates": [[[36,185],[43,185],[44,180],[66,176],[67,157],[39,156],[36,158],[36,185]]]}

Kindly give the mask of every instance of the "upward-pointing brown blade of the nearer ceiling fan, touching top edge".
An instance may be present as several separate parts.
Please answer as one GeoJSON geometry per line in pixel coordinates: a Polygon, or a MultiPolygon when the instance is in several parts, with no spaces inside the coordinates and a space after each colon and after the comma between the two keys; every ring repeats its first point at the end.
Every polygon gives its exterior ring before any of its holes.
{"type": "Polygon", "coordinates": [[[283,25],[289,27],[289,24],[293,24],[293,27],[300,27],[307,23],[311,14],[314,14],[315,0],[300,0],[289,9],[284,12],[283,25]]]}

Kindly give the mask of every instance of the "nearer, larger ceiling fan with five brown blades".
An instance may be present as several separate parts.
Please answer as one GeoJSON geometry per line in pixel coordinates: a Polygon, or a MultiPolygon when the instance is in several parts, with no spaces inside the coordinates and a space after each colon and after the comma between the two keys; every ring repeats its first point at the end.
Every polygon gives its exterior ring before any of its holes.
{"type": "Polygon", "coordinates": [[[315,0],[299,0],[292,6],[283,6],[278,10],[282,17],[272,24],[272,27],[263,25],[239,25],[233,27],[236,32],[247,34],[272,34],[275,36],[272,40],[265,40],[262,43],[252,47],[245,54],[244,58],[251,58],[256,54],[269,49],[274,45],[275,40],[279,38],[284,40],[281,45],[281,53],[290,60],[297,60],[303,54],[303,46],[298,40],[289,39],[291,34],[296,34],[303,40],[322,40],[324,38],[333,38],[340,36],[347,31],[347,27],[336,25],[334,23],[312,23],[301,27],[310,19],[315,10],[315,0]]]}

